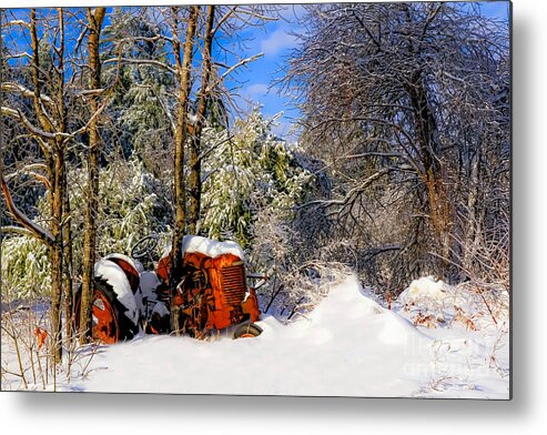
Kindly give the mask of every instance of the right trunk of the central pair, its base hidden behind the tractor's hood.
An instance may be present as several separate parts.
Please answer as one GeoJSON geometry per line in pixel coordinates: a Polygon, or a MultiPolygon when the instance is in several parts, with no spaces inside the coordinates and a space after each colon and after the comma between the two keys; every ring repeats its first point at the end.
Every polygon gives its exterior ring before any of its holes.
{"type": "Polygon", "coordinates": [[[189,231],[196,234],[199,230],[201,213],[201,136],[203,124],[205,122],[205,112],[211,95],[209,82],[211,79],[211,50],[213,45],[213,23],[214,23],[214,4],[209,6],[207,21],[205,26],[205,41],[203,47],[203,72],[201,77],[200,100],[197,102],[196,122],[194,132],[190,142],[190,216],[189,231]]]}

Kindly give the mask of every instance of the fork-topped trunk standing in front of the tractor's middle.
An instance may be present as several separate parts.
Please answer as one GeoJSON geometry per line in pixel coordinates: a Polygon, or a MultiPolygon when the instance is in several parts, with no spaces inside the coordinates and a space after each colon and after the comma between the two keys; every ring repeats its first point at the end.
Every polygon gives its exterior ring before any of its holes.
{"type": "MultiPolygon", "coordinates": [[[[195,29],[197,26],[199,6],[190,7],[190,17],[186,28],[186,39],[184,40],[184,53],[181,61],[180,39],[176,34],[179,20],[178,8],[173,7],[173,29],[175,33],[175,42],[173,50],[176,62],[176,71],[179,78],[179,113],[176,118],[176,130],[174,138],[174,206],[175,219],[173,230],[173,245],[171,250],[173,263],[171,267],[170,287],[171,301],[173,302],[176,294],[176,285],[181,279],[182,270],[182,240],[185,232],[186,220],[186,192],[184,183],[184,146],[188,141],[188,114],[190,100],[190,69],[192,67],[192,57],[195,39],[195,29]]],[[[171,331],[179,335],[179,307],[171,303],[171,331]]]]}

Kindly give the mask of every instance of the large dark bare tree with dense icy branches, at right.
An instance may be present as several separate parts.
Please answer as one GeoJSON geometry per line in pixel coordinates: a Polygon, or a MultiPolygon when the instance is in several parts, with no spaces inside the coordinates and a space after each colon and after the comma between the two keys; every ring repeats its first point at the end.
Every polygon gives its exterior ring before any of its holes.
{"type": "Polygon", "coordinates": [[[301,208],[301,231],[384,290],[507,271],[507,23],[468,3],[306,11],[283,84],[333,185],[301,208]]]}

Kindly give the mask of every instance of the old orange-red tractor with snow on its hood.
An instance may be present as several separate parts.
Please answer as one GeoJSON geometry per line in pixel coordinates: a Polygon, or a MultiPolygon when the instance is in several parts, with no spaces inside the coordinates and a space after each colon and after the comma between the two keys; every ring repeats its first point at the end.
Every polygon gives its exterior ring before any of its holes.
{"type": "MultiPolygon", "coordinates": [[[[170,334],[171,310],[176,310],[182,334],[204,338],[214,334],[233,334],[234,338],[262,333],[255,290],[265,276],[247,275],[242,249],[235,242],[217,242],[188,235],[182,246],[181,280],[172,292],[171,252],[153,261],[159,237],[141,239],[131,256],[111,254],[95,263],[92,296],[92,337],[112,344],[131,340],[139,331],[170,334]],[[144,264],[153,266],[145,271],[144,264]],[[254,287],[249,279],[261,279],[254,287]]],[[[81,290],[74,300],[75,313],[81,290]]],[[[77,316],[78,318],[78,316],[77,316]]]]}

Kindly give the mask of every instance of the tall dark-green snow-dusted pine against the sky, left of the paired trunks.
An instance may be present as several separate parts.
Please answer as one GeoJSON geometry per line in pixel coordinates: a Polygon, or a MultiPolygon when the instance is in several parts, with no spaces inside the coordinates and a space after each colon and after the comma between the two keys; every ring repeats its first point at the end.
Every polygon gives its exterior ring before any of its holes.
{"type": "MultiPolygon", "coordinates": [[[[115,8],[104,28],[105,50],[115,65],[121,53],[120,85],[112,101],[113,125],[107,132],[110,146],[119,146],[124,158],[138,155],[155,176],[172,176],[175,81],[163,68],[139,61],[165,62],[168,49],[161,24],[154,21],[152,8],[141,10],[115,8]]],[[[118,65],[117,65],[118,67],[118,65]]],[[[105,71],[112,75],[115,69],[105,71]]],[[[112,149],[109,151],[113,151],[112,149]]]]}

